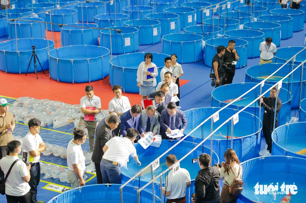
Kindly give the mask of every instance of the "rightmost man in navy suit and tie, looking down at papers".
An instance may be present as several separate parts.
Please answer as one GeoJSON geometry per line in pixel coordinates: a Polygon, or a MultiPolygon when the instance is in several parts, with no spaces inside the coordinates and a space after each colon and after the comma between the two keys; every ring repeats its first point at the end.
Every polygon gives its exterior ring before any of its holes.
{"type": "MultiPolygon", "coordinates": [[[[170,134],[171,130],[180,129],[183,133],[187,127],[187,119],[182,110],[176,109],[176,104],[170,102],[167,109],[164,109],[160,115],[160,135],[163,140],[169,140],[166,131],[170,134]]],[[[180,138],[179,138],[180,139],[180,138]]]]}

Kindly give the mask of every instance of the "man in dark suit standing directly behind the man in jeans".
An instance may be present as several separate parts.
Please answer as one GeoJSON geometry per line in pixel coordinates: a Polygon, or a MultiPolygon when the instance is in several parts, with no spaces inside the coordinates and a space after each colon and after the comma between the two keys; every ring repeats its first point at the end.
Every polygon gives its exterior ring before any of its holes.
{"type": "Polygon", "coordinates": [[[92,153],[91,160],[95,163],[97,183],[102,184],[102,174],[100,170],[100,162],[104,155],[103,147],[107,141],[112,137],[112,130],[115,130],[120,123],[120,118],[117,115],[112,115],[107,119],[107,122],[103,124],[96,135],[95,138],[95,147],[92,153]]]}

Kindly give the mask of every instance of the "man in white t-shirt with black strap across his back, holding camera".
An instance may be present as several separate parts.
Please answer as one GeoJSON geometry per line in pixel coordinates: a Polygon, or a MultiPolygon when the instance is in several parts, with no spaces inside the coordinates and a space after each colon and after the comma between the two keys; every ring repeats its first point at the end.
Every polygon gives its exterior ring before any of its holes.
{"type": "Polygon", "coordinates": [[[31,187],[28,182],[30,181],[31,165],[19,161],[17,155],[21,152],[20,145],[21,143],[15,140],[7,143],[9,155],[0,160],[0,166],[5,176],[9,173],[5,182],[5,194],[8,203],[30,203],[31,187]],[[9,172],[11,166],[13,167],[9,172]]]}

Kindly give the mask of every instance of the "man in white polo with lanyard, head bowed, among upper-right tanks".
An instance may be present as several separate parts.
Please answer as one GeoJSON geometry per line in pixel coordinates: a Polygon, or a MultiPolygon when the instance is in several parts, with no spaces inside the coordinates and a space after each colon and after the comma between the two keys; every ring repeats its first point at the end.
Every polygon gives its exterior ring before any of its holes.
{"type": "Polygon", "coordinates": [[[267,37],[266,41],[260,43],[260,61],[259,64],[272,63],[272,59],[276,54],[276,45],[272,43],[272,38],[267,37]]]}

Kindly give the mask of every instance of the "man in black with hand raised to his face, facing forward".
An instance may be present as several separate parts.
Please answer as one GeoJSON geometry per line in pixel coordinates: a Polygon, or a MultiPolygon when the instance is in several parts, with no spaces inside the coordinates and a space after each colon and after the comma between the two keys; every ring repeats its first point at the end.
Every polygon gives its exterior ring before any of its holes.
{"type": "Polygon", "coordinates": [[[232,84],[233,77],[235,75],[235,65],[231,64],[233,61],[239,61],[239,56],[237,54],[237,51],[235,49],[236,42],[233,40],[229,41],[228,46],[225,49],[224,53],[224,63],[226,64],[225,68],[225,74],[226,74],[226,80],[225,84],[232,84]]]}

